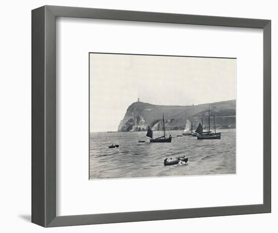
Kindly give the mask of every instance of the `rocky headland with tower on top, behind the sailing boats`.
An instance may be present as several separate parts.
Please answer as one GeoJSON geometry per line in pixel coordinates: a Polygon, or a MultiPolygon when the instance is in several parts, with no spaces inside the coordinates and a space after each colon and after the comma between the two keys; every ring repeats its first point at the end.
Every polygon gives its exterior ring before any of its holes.
{"type": "Polygon", "coordinates": [[[162,128],[164,113],[165,127],[168,130],[182,130],[186,120],[193,121],[196,128],[203,117],[203,125],[208,125],[208,109],[211,110],[211,122],[215,114],[218,128],[236,127],[236,100],[208,103],[195,106],[152,105],[144,102],[132,103],[121,120],[118,131],[146,131],[148,125],[153,130],[162,128]]]}

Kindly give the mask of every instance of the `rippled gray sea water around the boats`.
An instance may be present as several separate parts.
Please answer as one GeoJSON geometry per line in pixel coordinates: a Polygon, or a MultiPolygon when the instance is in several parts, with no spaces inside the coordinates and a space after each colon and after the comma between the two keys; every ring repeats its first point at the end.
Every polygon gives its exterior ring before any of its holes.
{"type": "Polygon", "coordinates": [[[181,131],[171,131],[172,143],[149,143],[146,132],[90,133],[90,179],[234,174],[236,129],[221,132],[219,140],[198,140],[175,137],[181,131]],[[109,149],[112,143],[119,148],[109,149]],[[165,158],[183,155],[189,158],[188,165],[164,166],[165,158]]]}

